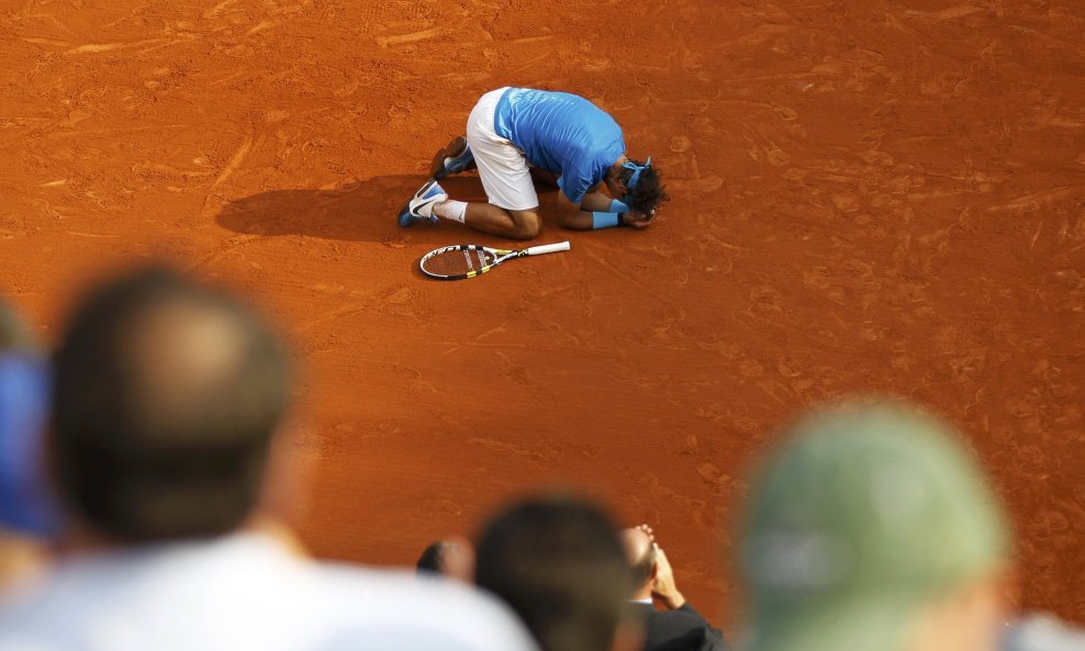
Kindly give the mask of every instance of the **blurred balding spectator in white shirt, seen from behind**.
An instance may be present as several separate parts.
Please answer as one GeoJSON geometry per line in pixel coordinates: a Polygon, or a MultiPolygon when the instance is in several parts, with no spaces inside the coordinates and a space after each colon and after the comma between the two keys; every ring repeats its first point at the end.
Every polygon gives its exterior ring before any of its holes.
{"type": "Polygon", "coordinates": [[[278,339],[228,295],[160,270],[96,291],[55,359],[66,554],[0,606],[0,649],[533,648],[467,587],[317,564],[260,524],[289,393],[278,339]]]}

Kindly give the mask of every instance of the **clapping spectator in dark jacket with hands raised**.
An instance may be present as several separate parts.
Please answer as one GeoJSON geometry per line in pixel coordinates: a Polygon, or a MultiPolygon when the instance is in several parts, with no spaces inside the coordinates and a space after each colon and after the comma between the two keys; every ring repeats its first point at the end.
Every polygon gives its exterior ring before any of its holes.
{"type": "Polygon", "coordinates": [[[667,553],[656,542],[651,527],[623,529],[622,542],[637,581],[633,602],[644,618],[645,651],[726,649],[723,633],[712,628],[679,592],[674,571],[667,553]],[[657,610],[652,597],[665,610],[657,610]]]}

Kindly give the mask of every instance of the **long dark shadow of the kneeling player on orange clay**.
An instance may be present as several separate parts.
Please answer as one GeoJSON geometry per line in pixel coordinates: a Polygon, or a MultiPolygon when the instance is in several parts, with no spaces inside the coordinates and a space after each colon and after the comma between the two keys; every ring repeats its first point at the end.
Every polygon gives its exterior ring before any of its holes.
{"type": "MultiPolygon", "coordinates": [[[[465,229],[459,224],[400,227],[400,209],[423,182],[425,177],[420,175],[392,175],[350,179],[332,189],[271,190],[224,204],[215,218],[224,228],[250,235],[437,244],[461,239],[465,229]]],[[[473,176],[445,179],[441,186],[457,199],[485,201],[482,186],[473,176]]]]}

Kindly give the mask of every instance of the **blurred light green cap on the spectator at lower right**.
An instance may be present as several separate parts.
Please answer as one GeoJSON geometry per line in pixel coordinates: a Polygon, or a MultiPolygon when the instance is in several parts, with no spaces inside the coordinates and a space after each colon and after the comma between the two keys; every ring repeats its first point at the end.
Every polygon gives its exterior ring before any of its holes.
{"type": "Polygon", "coordinates": [[[1009,536],[943,424],[852,405],[798,423],[769,459],[741,545],[752,651],[898,651],[916,610],[996,568],[1009,536]]]}

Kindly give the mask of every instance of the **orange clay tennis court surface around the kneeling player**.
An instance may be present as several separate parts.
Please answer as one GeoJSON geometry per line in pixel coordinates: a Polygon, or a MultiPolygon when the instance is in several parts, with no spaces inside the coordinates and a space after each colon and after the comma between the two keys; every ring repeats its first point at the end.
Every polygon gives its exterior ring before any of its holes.
{"type": "Polygon", "coordinates": [[[134,259],[266,305],[321,555],[411,563],[571,484],[724,624],[773,429],[910,396],[1008,501],[1025,605],[1085,621],[1083,33],[1077,0],[0,0],[0,291],[48,339],[134,259]],[[395,212],[508,85],[609,111],[673,201],[427,281],[427,250],[499,240],[395,212]]]}

